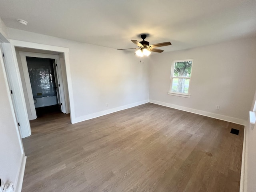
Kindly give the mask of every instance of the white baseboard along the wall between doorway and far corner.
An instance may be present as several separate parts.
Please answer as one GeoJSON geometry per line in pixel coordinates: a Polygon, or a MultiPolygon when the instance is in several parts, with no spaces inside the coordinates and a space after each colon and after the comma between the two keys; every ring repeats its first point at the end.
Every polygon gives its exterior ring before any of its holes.
{"type": "Polygon", "coordinates": [[[121,111],[121,110],[124,110],[124,109],[136,107],[138,105],[142,105],[142,104],[145,104],[145,103],[148,103],[148,100],[144,100],[144,101],[140,101],[140,102],[136,102],[136,103],[132,103],[132,104],[128,104],[128,105],[124,105],[124,106],[120,106],[120,107],[100,111],[100,112],[97,112],[97,113],[92,113],[92,114],[88,114],[88,115],[85,115],[85,116],[77,117],[72,121],[72,124],[82,122],[82,121],[85,121],[85,120],[89,120],[89,119],[93,119],[93,118],[96,118],[96,117],[100,117],[100,116],[103,116],[103,115],[107,115],[107,114],[110,114],[110,113],[118,112],[118,111],[121,111]]]}

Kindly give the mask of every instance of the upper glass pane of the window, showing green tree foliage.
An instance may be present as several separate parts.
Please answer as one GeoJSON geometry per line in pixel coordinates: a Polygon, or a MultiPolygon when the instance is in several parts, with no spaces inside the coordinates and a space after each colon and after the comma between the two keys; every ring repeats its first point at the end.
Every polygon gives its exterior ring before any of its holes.
{"type": "Polygon", "coordinates": [[[182,61],[174,63],[174,77],[190,77],[192,61],[182,61]]]}

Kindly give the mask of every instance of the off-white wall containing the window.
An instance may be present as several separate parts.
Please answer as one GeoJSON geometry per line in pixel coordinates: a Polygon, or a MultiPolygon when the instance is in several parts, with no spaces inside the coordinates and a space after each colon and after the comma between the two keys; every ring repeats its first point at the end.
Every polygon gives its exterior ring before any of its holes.
{"type": "Polygon", "coordinates": [[[155,54],[150,57],[150,101],[245,124],[255,92],[255,50],[256,38],[248,38],[155,54]],[[194,59],[191,98],[167,94],[172,61],[182,59],[194,59]]]}

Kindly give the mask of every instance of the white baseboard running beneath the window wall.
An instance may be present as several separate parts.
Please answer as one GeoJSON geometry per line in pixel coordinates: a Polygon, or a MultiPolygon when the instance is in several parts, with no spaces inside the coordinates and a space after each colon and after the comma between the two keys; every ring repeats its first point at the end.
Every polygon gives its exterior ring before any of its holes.
{"type": "Polygon", "coordinates": [[[197,110],[197,109],[192,109],[192,108],[174,105],[174,104],[170,104],[170,103],[160,102],[160,101],[156,101],[156,100],[149,100],[149,102],[158,104],[158,105],[162,105],[162,106],[166,106],[166,107],[170,107],[170,108],[174,108],[174,109],[178,109],[178,110],[182,110],[182,111],[186,111],[186,112],[190,112],[190,113],[195,113],[195,114],[199,114],[199,115],[203,115],[203,116],[207,116],[207,117],[211,117],[211,118],[215,118],[215,119],[220,119],[220,120],[244,125],[244,126],[246,125],[246,121],[243,119],[233,118],[233,117],[229,117],[229,116],[224,116],[224,115],[215,114],[215,113],[211,113],[211,112],[201,111],[201,110],[197,110]]]}

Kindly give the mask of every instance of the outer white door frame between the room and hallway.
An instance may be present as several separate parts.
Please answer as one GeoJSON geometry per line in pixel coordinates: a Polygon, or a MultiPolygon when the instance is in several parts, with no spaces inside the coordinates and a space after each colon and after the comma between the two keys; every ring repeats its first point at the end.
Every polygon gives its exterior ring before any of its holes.
{"type": "MultiPolygon", "coordinates": [[[[1,39],[1,34],[0,34],[1,39]]],[[[4,41],[5,42],[5,41],[4,41]]],[[[8,41],[7,41],[8,42],[8,41]]],[[[74,123],[74,103],[72,95],[72,83],[71,83],[71,74],[70,74],[70,63],[69,63],[69,49],[59,46],[51,46],[45,44],[38,44],[32,42],[23,42],[18,40],[10,40],[10,43],[3,44],[3,55],[6,61],[6,75],[8,76],[10,82],[10,94],[13,94],[14,100],[12,104],[14,110],[17,114],[17,122],[19,126],[19,132],[22,138],[28,137],[31,135],[30,128],[30,119],[28,114],[31,115],[31,110],[34,108],[34,99],[31,94],[27,92],[27,86],[31,88],[30,83],[27,84],[24,78],[24,72],[21,63],[21,52],[30,52],[30,54],[48,54],[58,57],[58,68],[59,73],[62,75],[62,80],[60,81],[60,86],[62,86],[61,96],[64,98],[62,102],[63,113],[70,113],[70,122],[74,123]],[[30,100],[32,98],[32,105],[30,100]]],[[[34,57],[34,56],[32,56],[34,57]]],[[[37,57],[37,56],[35,56],[37,57]]],[[[44,58],[42,56],[38,56],[44,58]]],[[[51,58],[50,57],[50,58],[51,58]]],[[[26,60],[26,58],[25,58],[26,60]]],[[[36,112],[35,112],[36,114],[36,112]]],[[[61,114],[61,113],[60,113],[61,114]]]]}

